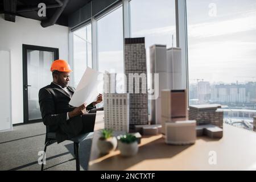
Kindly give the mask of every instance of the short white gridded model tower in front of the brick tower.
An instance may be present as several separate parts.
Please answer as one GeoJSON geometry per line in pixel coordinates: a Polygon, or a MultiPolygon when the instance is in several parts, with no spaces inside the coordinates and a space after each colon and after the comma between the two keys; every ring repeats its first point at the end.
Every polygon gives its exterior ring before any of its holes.
{"type": "Polygon", "coordinates": [[[129,94],[104,94],[105,129],[129,133],[129,94]]]}

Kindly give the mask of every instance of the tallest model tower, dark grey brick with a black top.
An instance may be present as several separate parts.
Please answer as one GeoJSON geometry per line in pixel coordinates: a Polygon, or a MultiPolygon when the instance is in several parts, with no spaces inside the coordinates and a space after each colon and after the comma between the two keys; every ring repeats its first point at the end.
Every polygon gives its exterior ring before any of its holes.
{"type": "Polygon", "coordinates": [[[144,38],[125,39],[126,92],[129,95],[130,127],[148,124],[147,67],[144,38]]]}

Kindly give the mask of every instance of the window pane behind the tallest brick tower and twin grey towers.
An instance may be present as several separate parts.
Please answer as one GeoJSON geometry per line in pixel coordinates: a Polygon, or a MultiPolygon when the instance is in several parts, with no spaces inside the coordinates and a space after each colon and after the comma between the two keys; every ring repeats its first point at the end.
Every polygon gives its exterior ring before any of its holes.
{"type": "MultiPolygon", "coordinates": [[[[147,88],[151,88],[150,46],[176,47],[175,0],[131,0],[131,37],[145,38],[147,88]]],[[[151,105],[148,101],[148,113],[151,105]]]]}

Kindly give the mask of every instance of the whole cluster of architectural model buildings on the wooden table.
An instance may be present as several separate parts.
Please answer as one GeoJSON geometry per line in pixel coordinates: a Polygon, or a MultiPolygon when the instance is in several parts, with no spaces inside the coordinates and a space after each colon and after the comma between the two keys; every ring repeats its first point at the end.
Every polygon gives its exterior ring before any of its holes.
{"type": "Polygon", "coordinates": [[[158,89],[159,97],[151,101],[148,124],[144,38],[125,39],[126,93],[115,93],[115,85],[110,84],[115,82],[114,75],[107,73],[104,77],[104,90],[108,92],[104,94],[106,129],[134,129],[143,135],[162,133],[168,144],[193,144],[203,135],[221,138],[220,105],[193,105],[188,110],[185,67],[180,48],[150,47],[150,71],[159,74],[159,80],[152,80],[152,88],[158,89]]]}

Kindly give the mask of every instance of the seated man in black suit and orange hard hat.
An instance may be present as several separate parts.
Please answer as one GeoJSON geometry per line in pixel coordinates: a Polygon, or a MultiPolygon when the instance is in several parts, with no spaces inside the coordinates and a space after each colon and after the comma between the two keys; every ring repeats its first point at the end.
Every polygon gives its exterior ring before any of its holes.
{"type": "Polygon", "coordinates": [[[64,60],[53,61],[51,71],[53,81],[39,90],[40,111],[48,132],[56,132],[58,143],[82,133],[92,132],[97,110],[95,105],[102,101],[102,94],[88,106],[71,106],[69,101],[75,88],[68,86],[69,74],[72,71],[68,63],[64,60]]]}

